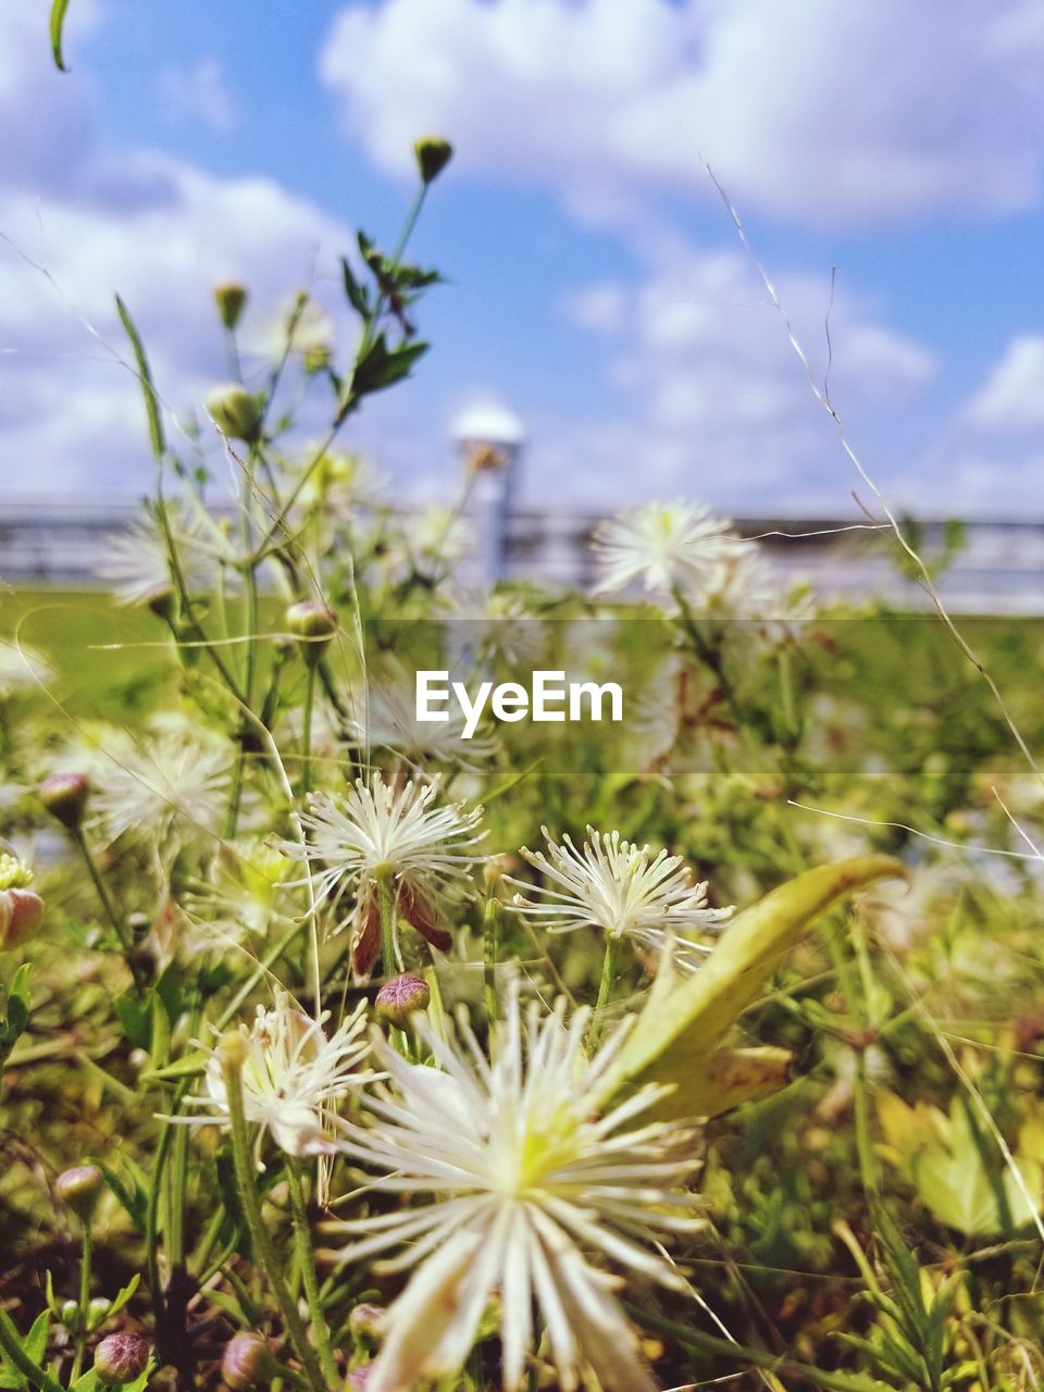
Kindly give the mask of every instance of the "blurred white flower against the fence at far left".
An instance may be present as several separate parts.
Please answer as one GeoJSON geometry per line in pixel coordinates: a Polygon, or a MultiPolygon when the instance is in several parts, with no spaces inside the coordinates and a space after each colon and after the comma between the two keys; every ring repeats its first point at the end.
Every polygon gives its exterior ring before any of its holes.
{"type": "MultiPolygon", "coordinates": [[[[220,550],[214,533],[195,514],[167,505],[178,567],[189,593],[209,589],[217,578],[220,550]]],[[[173,586],[164,529],[149,514],[106,540],[97,574],[113,589],[117,604],[148,604],[173,586]]]]}

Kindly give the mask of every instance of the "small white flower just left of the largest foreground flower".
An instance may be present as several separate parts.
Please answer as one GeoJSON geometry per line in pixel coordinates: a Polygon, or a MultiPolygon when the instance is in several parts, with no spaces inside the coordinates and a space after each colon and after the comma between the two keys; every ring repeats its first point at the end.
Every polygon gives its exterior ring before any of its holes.
{"type": "MultiPolygon", "coordinates": [[[[288,1155],[329,1153],[330,1119],[338,1101],[374,1076],[359,1070],[369,1054],[365,1016],[366,1002],[361,1001],[327,1038],[323,1022],[309,1019],[280,991],[274,1009],[259,1005],[251,1027],[239,1026],[246,1044],[242,1069],[246,1121],[260,1126],[262,1136],[269,1132],[288,1155]]],[[[214,1108],[217,1115],[184,1118],[189,1125],[227,1123],[228,1094],[214,1051],[206,1065],[206,1096],[191,1101],[214,1108]]]]}

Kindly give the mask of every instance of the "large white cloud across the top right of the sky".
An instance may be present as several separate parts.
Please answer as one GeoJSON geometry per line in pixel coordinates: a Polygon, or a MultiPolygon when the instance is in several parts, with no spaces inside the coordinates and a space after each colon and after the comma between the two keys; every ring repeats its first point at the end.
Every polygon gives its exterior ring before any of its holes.
{"type": "Polygon", "coordinates": [[[1044,188],[1044,24],[1026,0],[381,0],[320,60],[404,173],[419,131],[475,178],[597,203],[704,191],[824,224],[1004,213],[1044,188]],[[1001,96],[1002,93],[1002,96],[1001,96]]]}

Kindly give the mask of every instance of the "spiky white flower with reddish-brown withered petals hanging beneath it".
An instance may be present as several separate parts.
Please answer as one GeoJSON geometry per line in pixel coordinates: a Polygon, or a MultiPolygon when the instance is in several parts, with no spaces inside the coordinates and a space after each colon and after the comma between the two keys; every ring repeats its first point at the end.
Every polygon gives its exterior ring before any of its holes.
{"type": "MultiPolygon", "coordinates": [[[[377,884],[387,880],[395,894],[398,916],[406,919],[433,947],[448,951],[452,940],[440,924],[438,896],[469,896],[472,848],[482,839],[482,807],[462,803],[433,806],[438,786],[409,781],[388,785],[374,774],[367,786],[356,780],[342,798],[312,793],[301,823],[308,834],[308,859],[319,901],[355,898],[354,908],[337,924],[352,922],[352,965],[359,973],[373,966],[380,947],[377,884]]],[[[294,841],[281,844],[285,855],[299,857],[294,841]]],[[[303,883],[303,881],[299,881],[303,883]]]]}

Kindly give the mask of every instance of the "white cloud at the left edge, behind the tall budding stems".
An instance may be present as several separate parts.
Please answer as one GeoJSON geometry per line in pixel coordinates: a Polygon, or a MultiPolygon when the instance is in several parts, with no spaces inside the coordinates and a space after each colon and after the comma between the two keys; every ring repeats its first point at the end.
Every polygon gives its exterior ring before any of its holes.
{"type": "MultiPolygon", "coordinates": [[[[227,376],[212,285],[249,287],[245,338],[259,338],[298,287],[342,301],[335,253],[349,231],[270,178],[107,145],[89,79],[53,71],[26,8],[6,7],[0,19],[0,483],[146,493],[141,393],[114,294],[134,313],[174,422],[227,376]]],[[[245,356],[248,372],[263,366],[245,356]]],[[[199,447],[173,432],[195,462],[199,447]]],[[[206,429],[202,440],[220,458],[206,429]]]]}

